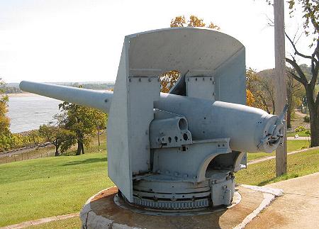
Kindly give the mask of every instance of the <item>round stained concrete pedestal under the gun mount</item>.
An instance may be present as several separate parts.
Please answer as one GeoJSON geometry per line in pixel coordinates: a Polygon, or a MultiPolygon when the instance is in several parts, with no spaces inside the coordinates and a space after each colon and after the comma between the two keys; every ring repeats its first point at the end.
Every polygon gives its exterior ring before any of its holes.
{"type": "Polygon", "coordinates": [[[232,208],[197,216],[152,216],[116,205],[113,186],[92,196],[80,213],[83,228],[243,228],[280,191],[255,186],[237,186],[241,201],[232,208]]]}

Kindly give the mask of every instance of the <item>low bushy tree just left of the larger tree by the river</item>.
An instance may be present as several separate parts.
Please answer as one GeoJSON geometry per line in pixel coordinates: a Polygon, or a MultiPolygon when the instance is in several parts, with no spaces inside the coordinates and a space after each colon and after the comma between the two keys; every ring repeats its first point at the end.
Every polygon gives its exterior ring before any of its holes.
{"type": "MultiPolygon", "coordinates": [[[[47,142],[55,145],[55,156],[59,156],[59,148],[67,140],[74,138],[74,133],[66,130],[59,125],[40,125],[39,134],[45,138],[47,142]]],[[[64,152],[62,150],[62,152],[64,152]]]]}

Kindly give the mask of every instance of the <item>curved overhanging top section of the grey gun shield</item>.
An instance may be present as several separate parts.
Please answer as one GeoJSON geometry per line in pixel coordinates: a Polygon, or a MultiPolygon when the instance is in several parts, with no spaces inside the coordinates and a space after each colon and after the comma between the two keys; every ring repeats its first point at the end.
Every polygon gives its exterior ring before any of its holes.
{"type": "Polygon", "coordinates": [[[245,50],[230,35],[207,28],[164,28],[125,38],[130,42],[130,75],[138,76],[158,75],[172,69],[179,70],[181,75],[189,70],[213,73],[237,52],[245,50]]]}

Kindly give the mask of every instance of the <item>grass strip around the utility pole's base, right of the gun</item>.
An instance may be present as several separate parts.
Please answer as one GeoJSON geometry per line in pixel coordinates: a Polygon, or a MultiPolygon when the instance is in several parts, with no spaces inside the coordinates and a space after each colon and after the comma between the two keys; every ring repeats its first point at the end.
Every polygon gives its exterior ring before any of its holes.
{"type": "Polygon", "coordinates": [[[275,159],[250,164],[235,174],[236,183],[263,186],[265,184],[319,172],[319,150],[307,150],[288,155],[287,174],[276,177],[275,159]]]}

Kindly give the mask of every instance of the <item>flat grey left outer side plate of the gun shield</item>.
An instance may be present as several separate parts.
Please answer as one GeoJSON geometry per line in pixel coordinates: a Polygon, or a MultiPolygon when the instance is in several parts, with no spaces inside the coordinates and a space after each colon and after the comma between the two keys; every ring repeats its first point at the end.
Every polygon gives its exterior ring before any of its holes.
{"type": "MultiPolygon", "coordinates": [[[[125,40],[124,44],[128,41],[125,40]]],[[[130,138],[129,130],[129,99],[128,99],[128,58],[126,53],[128,47],[123,45],[120,65],[118,67],[118,76],[116,78],[116,85],[114,87],[114,95],[112,98],[111,108],[108,118],[108,177],[111,177],[116,186],[123,191],[123,195],[129,201],[133,201],[133,193],[131,187],[132,181],[132,167],[130,163],[129,145],[130,138]],[[119,124],[119,125],[118,125],[119,124]],[[118,155],[117,155],[118,153],[118,155]],[[113,178],[112,178],[113,177],[113,178]],[[116,179],[121,177],[121,179],[116,179]]]]}

